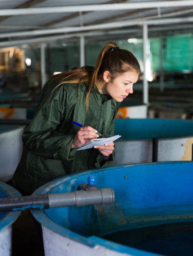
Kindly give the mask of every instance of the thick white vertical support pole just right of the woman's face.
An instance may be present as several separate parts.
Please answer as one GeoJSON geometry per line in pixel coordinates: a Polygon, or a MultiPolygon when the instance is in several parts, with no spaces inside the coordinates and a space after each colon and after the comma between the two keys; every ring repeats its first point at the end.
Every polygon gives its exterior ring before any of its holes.
{"type": "Polygon", "coordinates": [[[147,80],[147,54],[148,54],[148,25],[143,24],[143,103],[148,104],[147,80]]]}

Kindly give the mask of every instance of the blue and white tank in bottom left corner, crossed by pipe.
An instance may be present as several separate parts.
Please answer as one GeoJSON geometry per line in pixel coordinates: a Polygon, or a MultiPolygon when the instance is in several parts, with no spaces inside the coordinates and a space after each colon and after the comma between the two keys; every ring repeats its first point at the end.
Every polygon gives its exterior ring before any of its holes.
{"type": "MultiPolygon", "coordinates": [[[[19,197],[18,190],[0,182],[0,198],[19,197]]],[[[20,212],[0,212],[0,255],[12,255],[12,224],[18,218],[20,212]]]]}

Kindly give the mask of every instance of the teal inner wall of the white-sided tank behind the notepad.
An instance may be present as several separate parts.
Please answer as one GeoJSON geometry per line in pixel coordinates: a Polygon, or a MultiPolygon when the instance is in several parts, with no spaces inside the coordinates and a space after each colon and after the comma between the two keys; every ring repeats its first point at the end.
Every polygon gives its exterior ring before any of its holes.
{"type": "Polygon", "coordinates": [[[119,140],[193,136],[193,120],[116,119],[115,134],[121,135],[119,140]]]}

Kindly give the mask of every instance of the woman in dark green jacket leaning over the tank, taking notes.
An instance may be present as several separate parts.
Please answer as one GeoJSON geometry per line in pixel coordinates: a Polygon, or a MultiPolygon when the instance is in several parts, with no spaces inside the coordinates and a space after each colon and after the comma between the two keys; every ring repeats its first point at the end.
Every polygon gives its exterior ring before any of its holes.
{"type": "Polygon", "coordinates": [[[107,44],[95,68],[55,75],[45,84],[38,110],[25,129],[23,155],[12,183],[23,195],[55,178],[113,160],[114,143],[77,151],[87,141],[113,136],[116,113],[137,82],[140,66],[132,53],[107,44]],[[73,122],[83,125],[79,127],[73,122]]]}

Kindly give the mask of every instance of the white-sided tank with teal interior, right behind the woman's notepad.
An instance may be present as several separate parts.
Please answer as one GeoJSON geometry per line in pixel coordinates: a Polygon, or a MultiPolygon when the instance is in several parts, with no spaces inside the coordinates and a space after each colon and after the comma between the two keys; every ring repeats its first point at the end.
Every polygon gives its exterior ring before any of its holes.
{"type": "Polygon", "coordinates": [[[111,166],[152,162],[153,138],[158,161],[192,160],[193,120],[116,119],[115,157],[111,166]]]}

